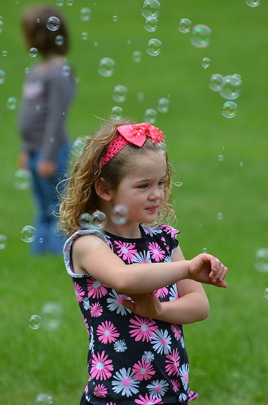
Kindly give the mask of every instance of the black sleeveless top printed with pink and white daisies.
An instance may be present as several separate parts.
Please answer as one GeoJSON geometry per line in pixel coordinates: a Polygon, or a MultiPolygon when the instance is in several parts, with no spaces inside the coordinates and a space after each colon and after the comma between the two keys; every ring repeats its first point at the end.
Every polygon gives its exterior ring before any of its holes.
{"type": "MultiPolygon", "coordinates": [[[[90,274],[72,271],[72,242],[78,235],[97,234],[126,265],[170,262],[178,231],[167,225],[139,225],[142,238],[128,239],[79,230],[64,245],[64,262],[90,339],[85,397],[91,404],[187,404],[189,359],[183,327],[135,315],[122,306],[126,295],[90,274]]],[[[156,291],[161,302],[178,298],[176,284],[156,291]]]]}

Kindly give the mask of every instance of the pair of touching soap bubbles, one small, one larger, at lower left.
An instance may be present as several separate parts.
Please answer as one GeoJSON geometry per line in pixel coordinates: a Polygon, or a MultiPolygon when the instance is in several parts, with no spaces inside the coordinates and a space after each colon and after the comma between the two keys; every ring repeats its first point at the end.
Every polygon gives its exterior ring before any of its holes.
{"type": "Polygon", "coordinates": [[[40,315],[31,315],[28,320],[29,328],[39,329],[41,326],[44,330],[57,330],[62,324],[63,310],[58,302],[45,302],[40,309],[40,315]]]}

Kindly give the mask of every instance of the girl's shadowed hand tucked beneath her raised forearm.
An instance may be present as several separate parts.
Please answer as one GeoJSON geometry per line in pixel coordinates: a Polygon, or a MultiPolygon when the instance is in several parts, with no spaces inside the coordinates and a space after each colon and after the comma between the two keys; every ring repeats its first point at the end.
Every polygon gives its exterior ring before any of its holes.
{"type": "MultiPolygon", "coordinates": [[[[119,293],[120,294],[120,293],[119,293]]],[[[139,317],[158,319],[163,312],[161,302],[155,292],[146,294],[128,294],[132,301],[123,299],[121,304],[139,317]]]]}

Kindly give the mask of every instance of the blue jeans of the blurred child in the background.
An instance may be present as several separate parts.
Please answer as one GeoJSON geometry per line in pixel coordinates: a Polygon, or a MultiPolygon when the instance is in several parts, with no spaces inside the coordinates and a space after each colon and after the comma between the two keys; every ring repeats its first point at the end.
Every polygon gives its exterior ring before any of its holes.
{"type": "Polygon", "coordinates": [[[59,147],[55,162],[57,173],[53,177],[40,177],[36,173],[41,151],[29,155],[29,170],[33,175],[33,193],[36,201],[34,228],[37,231],[36,240],[30,245],[31,254],[62,254],[66,237],[57,230],[57,217],[53,212],[59,212],[59,193],[62,193],[64,184],[59,184],[58,187],[57,184],[66,178],[69,154],[69,143],[59,147]]]}

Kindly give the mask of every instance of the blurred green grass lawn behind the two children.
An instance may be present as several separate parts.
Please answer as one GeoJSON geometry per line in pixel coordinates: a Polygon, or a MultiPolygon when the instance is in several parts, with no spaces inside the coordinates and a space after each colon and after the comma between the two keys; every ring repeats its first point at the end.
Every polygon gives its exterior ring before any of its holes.
{"type": "MultiPolygon", "coordinates": [[[[46,3],[55,5],[54,0],[46,3]]],[[[0,8],[0,51],[8,52],[5,57],[0,53],[0,69],[6,72],[0,86],[0,234],[8,236],[0,251],[0,403],[33,404],[38,393],[47,392],[55,404],[79,404],[87,380],[88,338],[72,283],[62,258],[29,256],[19,233],[31,223],[34,207],[30,191],[12,185],[20,138],[17,111],[5,103],[10,96],[21,99],[25,68],[34,62],[19,23],[28,4],[9,0],[0,8]],[[62,327],[31,330],[29,317],[51,300],[62,305],[62,327]]],[[[166,134],[176,180],[183,182],[174,190],[180,245],[186,258],[206,247],[229,267],[228,289],[205,286],[209,318],[185,326],[190,386],[200,393],[199,405],[265,405],[268,302],[263,293],[268,275],[254,270],[252,260],[256,249],[268,245],[268,4],[250,8],[245,0],[161,1],[154,33],[145,31],[140,5],[137,0],[74,0],[59,8],[70,30],[68,60],[80,78],[68,130],[73,140],[92,134],[99,124],[94,115],[108,116],[116,105],[111,91],[117,84],[129,89],[121,105],[124,115],[137,121],[144,120],[146,108],[156,108],[160,97],[169,97],[170,111],[159,113],[156,125],[166,134]],[[92,10],[88,22],[79,19],[83,7],[92,10]],[[211,45],[193,47],[189,35],[178,31],[182,18],[211,27],[211,45]],[[88,32],[88,40],[81,40],[82,32],[88,32]],[[145,51],[150,38],[163,42],[157,57],[145,51]],[[132,61],[137,50],[142,51],[140,63],[132,61]],[[111,77],[97,73],[103,57],[116,61],[111,77]],[[211,59],[206,70],[204,57],[211,59]],[[234,119],[222,116],[225,100],[209,89],[213,73],[239,73],[243,79],[234,119]],[[143,102],[137,101],[140,91],[143,102]],[[220,221],[218,212],[224,214],[220,221]]]]}

